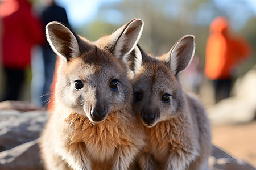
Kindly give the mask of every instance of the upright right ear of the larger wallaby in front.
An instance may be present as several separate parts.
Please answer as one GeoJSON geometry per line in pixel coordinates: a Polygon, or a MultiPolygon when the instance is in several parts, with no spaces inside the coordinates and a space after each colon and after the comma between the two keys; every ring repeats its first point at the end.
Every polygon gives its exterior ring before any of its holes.
{"type": "Polygon", "coordinates": [[[143,24],[141,19],[135,18],[110,35],[110,52],[116,58],[127,62],[127,56],[135,48],[141,37],[143,24]]]}

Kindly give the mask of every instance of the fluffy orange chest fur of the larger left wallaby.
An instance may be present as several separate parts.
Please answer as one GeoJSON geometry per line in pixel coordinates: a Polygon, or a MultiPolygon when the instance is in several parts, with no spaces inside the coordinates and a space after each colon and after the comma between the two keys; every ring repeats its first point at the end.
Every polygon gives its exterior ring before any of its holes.
{"type": "Polygon", "coordinates": [[[119,145],[130,143],[115,114],[109,114],[106,120],[99,124],[93,124],[88,118],[77,114],[74,114],[70,121],[75,128],[71,143],[84,143],[86,153],[92,159],[102,162],[112,159],[119,145]]]}

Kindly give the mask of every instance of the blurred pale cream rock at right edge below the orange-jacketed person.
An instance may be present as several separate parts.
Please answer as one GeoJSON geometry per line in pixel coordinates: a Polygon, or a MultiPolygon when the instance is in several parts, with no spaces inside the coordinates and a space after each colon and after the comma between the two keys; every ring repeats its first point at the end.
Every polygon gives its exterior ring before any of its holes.
{"type": "Polygon", "coordinates": [[[256,116],[256,67],[238,79],[235,95],[207,109],[212,124],[243,124],[256,116]]]}

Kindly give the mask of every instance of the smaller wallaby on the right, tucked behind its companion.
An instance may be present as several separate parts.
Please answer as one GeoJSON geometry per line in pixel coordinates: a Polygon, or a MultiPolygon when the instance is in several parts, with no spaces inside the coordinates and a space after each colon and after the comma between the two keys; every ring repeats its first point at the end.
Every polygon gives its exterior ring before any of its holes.
{"type": "Polygon", "coordinates": [[[210,125],[203,105],[186,94],[179,75],[192,61],[195,37],[181,37],[159,58],[134,50],[134,112],[141,116],[147,141],[138,155],[141,169],[208,169],[210,125]]]}

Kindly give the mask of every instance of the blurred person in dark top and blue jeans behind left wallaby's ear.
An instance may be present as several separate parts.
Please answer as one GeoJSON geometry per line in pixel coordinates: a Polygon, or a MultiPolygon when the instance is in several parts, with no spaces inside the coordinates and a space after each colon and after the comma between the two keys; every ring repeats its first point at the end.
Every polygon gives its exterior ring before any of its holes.
{"type": "MultiPolygon", "coordinates": [[[[44,0],[46,7],[42,11],[42,20],[44,27],[52,21],[59,21],[69,26],[67,13],[64,8],[58,6],[54,0],[44,0]]],[[[42,56],[44,63],[44,86],[42,92],[42,106],[46,105],[49,100],[49,92],[55,70],[56,54],[49,46],[48,42],[42,46],[42,56]]]]}

